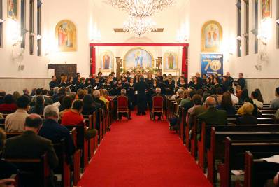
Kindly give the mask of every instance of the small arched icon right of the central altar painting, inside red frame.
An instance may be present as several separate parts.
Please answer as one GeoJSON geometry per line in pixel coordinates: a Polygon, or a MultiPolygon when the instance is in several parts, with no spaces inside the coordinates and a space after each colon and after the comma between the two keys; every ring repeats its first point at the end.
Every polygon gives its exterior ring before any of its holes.
{"type": "Polygon", "coordinates": [[[164,53],[164,71],[176,71],[178,69],[178,55],[172,51],[164,53]]]}

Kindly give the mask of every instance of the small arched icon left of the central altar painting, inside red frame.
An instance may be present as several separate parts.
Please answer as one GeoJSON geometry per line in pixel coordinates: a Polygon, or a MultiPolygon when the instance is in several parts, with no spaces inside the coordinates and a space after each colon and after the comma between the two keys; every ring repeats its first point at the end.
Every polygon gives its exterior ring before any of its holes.
{"type": "Polygon", "coordinates": [[[101,53],[100,56],[100,67],[102,72],[112,72],[114,64],[114,55],[110,50],[106,50],[101,53]]]}

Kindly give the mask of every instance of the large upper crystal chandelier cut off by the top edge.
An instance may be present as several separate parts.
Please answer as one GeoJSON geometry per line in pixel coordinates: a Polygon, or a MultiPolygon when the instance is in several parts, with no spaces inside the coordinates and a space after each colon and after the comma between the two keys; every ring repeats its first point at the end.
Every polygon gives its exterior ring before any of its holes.
{"type": "Polygon", "coordinates": [[[171,6],[175,0],[107,0],[114,8],[125,11],[131,16],[144,18],[163,8],[171,6]]]}

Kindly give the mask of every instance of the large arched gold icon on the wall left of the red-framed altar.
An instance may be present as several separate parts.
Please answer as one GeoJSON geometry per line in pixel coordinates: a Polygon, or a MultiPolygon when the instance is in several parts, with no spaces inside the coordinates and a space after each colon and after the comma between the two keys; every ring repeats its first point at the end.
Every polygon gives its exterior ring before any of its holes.
{"type": "Polygon", "coordinates": [[[69,20],[57,23],[55,35],[58,49],[61,52],[76,51],[76,26],[69,20]]]}

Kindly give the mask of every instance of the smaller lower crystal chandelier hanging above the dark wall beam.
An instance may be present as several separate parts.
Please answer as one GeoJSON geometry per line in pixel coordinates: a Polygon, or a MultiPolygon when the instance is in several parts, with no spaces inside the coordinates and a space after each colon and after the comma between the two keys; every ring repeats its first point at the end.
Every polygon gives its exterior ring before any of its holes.
{"type": "Polygon", "coordinates": [[[134,32],[139,37],[146,32],[156,32],[156,24],[148,18],[137,18],[131,16],[124,22],[124,32],[134,32]]]}

